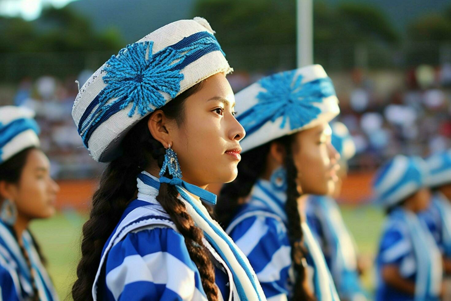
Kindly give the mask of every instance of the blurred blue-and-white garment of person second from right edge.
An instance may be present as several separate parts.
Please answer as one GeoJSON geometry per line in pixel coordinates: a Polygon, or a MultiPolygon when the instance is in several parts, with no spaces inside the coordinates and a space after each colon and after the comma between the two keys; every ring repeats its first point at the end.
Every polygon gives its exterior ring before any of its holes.
{"type": "Polygon", "coordinates": [[[377,301],[439,300],[442,259],[433,237],[414,213],[395,208],[388,216],[379,245],[377,263],[377,301]],[[415,283],[415,296],[384,282],[386,265],[396,265],[400,275],[415,283]]]}

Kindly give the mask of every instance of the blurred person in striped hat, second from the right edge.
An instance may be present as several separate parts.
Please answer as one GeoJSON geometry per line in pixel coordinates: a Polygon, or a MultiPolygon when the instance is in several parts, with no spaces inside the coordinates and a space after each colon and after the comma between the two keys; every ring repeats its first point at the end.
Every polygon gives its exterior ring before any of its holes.
{"type": "Polygon", "coordinates": [[[442,258],[418,214],[428,208],[426,166],[397,155],[375,176],[377,204],[387,212],[377,254],[376,300],[439,300],[442,258]]]}

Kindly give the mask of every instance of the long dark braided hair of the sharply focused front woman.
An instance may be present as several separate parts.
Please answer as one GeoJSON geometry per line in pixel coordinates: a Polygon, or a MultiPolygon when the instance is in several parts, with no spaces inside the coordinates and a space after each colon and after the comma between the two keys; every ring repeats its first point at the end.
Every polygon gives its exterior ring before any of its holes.
{"type": "MultiPolygon", "coordinates": [[[[161,110],[166,117],[175,119],[178,125],[184,121],[184,101],[196,93],[202,82],[189,88],[168,102],[161,110]]],[[[101,176],[98,190],[92,198],[92,209],[88,221],[83,225],[82,258],[72,287],[74,301],[92,300],[92,285],[100,263],[102,248],[110,233],[119,222],[127,205],[136,198],[136,177],[157,162],[161,168],[166,149],[155,140],[147,127],[149,117],[140,120],[121,143],[122,155],[110,162],[101,176]]],[[[169,174],[166,171],[166,177],[169,174]]],[[[215,273],[208,251],[202,243],[203,232],[196,227],[184,204],[177,198],[175,186],[160,184],[156,199],[170,215],[179,232],[184,236],[189,256],[196,264],[202,287],[208,300],[218,300],[215,273]]]]}

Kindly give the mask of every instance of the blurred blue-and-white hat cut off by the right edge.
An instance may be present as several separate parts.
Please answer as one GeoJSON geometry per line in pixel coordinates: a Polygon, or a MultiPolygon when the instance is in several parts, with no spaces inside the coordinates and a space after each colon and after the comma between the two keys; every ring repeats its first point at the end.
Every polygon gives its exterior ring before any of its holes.
{"type": "Polygon", "coordinates": [[[451,149],[429,156],[426,163],[429,187],[451,184],[451,149]]]}

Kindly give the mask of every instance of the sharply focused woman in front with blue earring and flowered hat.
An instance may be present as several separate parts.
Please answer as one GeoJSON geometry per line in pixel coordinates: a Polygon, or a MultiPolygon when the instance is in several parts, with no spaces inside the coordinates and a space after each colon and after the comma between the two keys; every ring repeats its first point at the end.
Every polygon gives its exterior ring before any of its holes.
{"type": "Polygon", "coordinates": [[[78,132],[109,164],[83,226],[75,301],[265,300],[209,213],[205,188],[235,179],[245,134],[213,33],[202,18],[170,23],[78,93],[78,132]]]}

